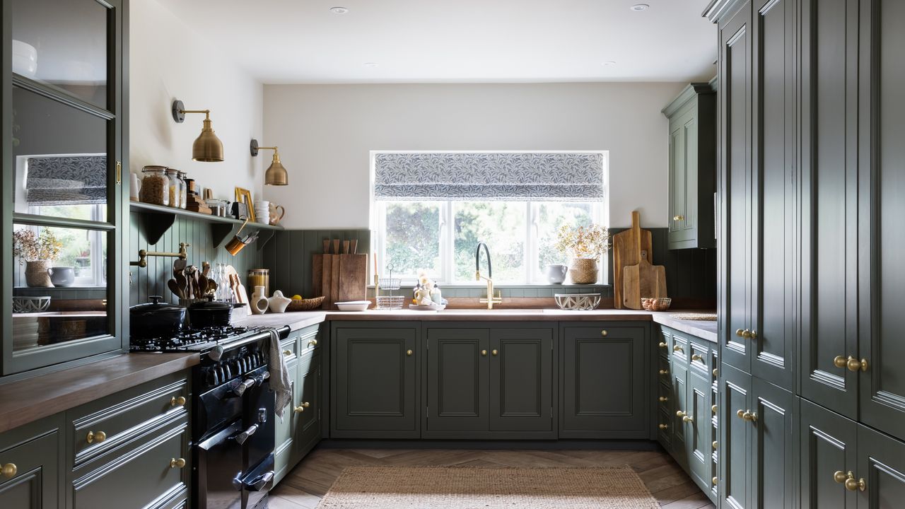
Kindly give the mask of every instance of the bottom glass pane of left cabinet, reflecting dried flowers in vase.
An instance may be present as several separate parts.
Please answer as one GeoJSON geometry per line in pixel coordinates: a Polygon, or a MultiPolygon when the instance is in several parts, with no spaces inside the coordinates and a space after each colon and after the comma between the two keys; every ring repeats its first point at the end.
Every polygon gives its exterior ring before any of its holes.
{"type": "Polygon", "coordinates": [[[14,225],[14,351],[110,333],[107,237],[95,230],[14,225]]]}

